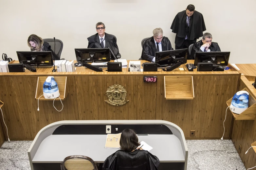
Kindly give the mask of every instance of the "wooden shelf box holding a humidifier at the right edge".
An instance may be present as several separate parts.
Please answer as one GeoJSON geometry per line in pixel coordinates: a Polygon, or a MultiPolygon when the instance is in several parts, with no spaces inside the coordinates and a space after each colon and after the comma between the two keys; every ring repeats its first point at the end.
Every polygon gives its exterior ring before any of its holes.
{"type": "MultiPolygon", "coordinates": [[[[235,120],[255,120],[256,116],[256,99],[253,97],[250,91],[247,88],[244,88],[242,91],[247,91],[249,93],[249,104],[248,108],[243,111],[241,114],[233,113],[230,109],[235,120]]],[[[233,98],[233,97],[232,97],[233,98]]],[[[230,98],[226,103],[230,106],[232,98],[230,98]]]]}

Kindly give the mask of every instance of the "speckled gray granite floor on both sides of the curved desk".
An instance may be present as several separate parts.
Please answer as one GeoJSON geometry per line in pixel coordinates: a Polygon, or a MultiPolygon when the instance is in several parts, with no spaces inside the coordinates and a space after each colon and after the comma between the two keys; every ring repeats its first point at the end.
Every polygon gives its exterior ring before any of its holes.
{"type": "MultiPolygon", "coordinates": [[[[186,140],[188,170],[246,170],[231,140],[186,140]]],[[[0,170],[30,170],[27,150],[32,141],[5,142],[0,170]]]]}

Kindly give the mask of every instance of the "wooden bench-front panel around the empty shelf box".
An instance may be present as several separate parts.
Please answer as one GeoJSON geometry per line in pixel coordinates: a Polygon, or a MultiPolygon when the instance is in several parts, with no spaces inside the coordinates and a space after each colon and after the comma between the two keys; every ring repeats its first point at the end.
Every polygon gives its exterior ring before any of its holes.
{"type": "MultiPolygon", "coordinates": [[[[237,89],[237,76],[193,76],[194,100],[165,100],[164,78],[158,76],[156,120],[178,125],[186,138],[195,130],[195,138],[221,138],[226,101],[237,89]]],[[[232,116],[227,114],[224,138],[229,138],[232,116]]]]}

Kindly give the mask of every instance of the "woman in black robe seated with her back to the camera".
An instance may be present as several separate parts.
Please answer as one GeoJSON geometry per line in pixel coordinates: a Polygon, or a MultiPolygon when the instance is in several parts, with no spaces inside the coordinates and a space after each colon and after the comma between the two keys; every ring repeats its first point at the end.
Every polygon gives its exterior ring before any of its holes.
{"type": "Polygon", "coordinates": [[[110,155],[103,164],[106,170],[157,170],[159,159],[142,148],[136,133],[131,129],[122,131],[121,149],[110,155]]]}

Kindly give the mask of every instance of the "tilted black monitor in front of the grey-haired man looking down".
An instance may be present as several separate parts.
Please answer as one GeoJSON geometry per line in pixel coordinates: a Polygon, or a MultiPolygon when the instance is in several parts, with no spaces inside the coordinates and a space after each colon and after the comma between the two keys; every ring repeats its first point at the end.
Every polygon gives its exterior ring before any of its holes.
{"type": "Polygon", "coordinates": [[[185,63],[187,63],[187,55],[186,55],[187,51],[188,51],[188,49],[155,52],[155,62],[160,65],[161,64],[172,64],[173,59],[175,59],[174,63],[176,63],[177,59],[183,57],[182,64],[185,64],[185,63]]]}

